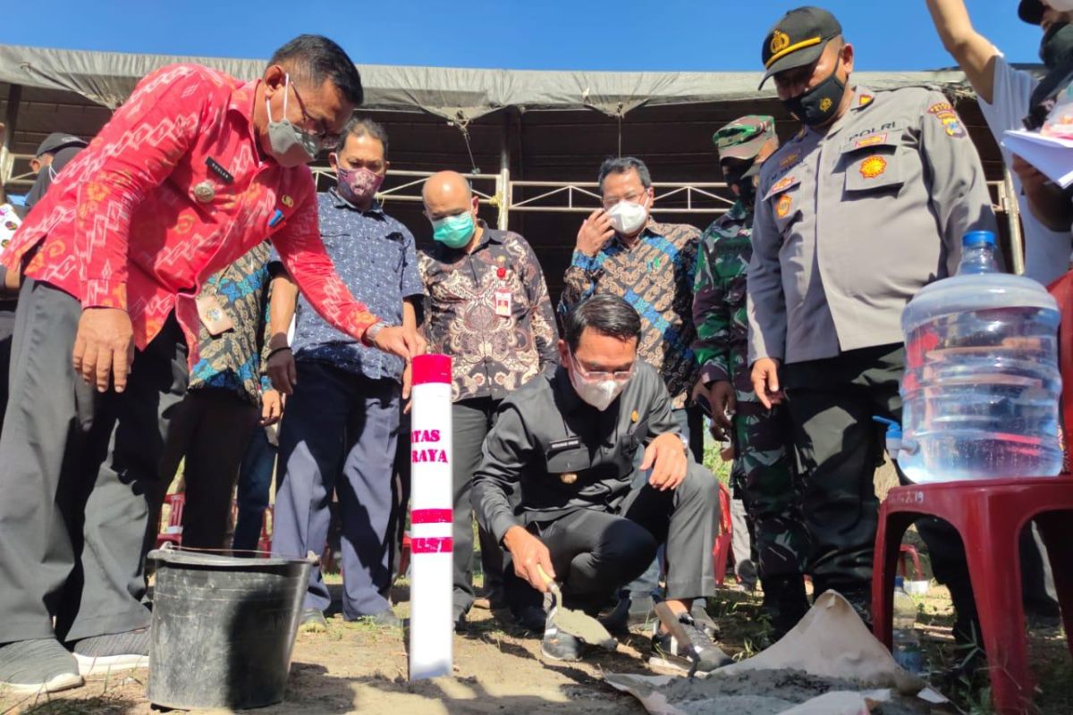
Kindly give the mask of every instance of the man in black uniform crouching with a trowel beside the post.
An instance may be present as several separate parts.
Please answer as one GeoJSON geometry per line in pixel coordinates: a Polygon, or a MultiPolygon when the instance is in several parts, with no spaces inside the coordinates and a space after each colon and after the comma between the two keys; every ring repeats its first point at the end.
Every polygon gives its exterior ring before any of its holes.
{"type": "MultiPolygon", "coordinates": [[[[689,611],[694,598],[715,594],[718,483],[690,461],[663,381],[637,359],[640,334],[641,316],[617,296],[593,296],[567,316],[560,367],[500,406],[473,476],[473,504],[481,525],[511,554],[505,585],[519,614],[543,602],[541,569],[562,584],[564,606],[594,614],[665,541],[667,605],[699,647],[700,669],[712,670],[729,658],[689,611]],[[640,448],[648,481],[631,490],[640,448]],[[515,485],[517,510],[506,496],[515,485]]],[[[652,649],[682,660],[660,626],[652,649]]],[[[577,660],[582,644],[548,621],[541,652],[577,660]]]]}

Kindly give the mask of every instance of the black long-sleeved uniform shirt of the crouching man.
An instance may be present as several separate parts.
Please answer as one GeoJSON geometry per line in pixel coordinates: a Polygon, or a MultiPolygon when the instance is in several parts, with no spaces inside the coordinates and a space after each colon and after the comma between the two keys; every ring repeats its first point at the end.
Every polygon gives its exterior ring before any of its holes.
{"type": "Polygon", "coordinates": [[[544,373],[499,407],[473,474],[477,519],[502,541],[511,526],[575,509],[614,512],[630,491],[637,449],[665,432],[680,434],[671,396],[641,360],[603,412],[577,397],[565,368],[544,373]],[[515,485],[521,486],[517,515],[506,496],[515,485]]]}

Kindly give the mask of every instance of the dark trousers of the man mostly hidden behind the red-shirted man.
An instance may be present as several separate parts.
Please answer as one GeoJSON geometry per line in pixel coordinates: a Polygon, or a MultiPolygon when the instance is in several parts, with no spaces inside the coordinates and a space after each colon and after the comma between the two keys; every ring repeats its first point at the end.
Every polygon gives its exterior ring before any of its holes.
{"type": "MultiPolygon", "coordinates": [[[[182,509],[182,546],[194,549],[226,548],[227,516],[238,467],[256,428],[261,411],[231,390],[190,390],[171,420],[161,485],[171,483],[183,460],[186,505],[182,509]]],[[[163,501],[159,495],[157,507],[163,501]]],[[[149,524],[150,530],[156,522],[149,524]]]]}

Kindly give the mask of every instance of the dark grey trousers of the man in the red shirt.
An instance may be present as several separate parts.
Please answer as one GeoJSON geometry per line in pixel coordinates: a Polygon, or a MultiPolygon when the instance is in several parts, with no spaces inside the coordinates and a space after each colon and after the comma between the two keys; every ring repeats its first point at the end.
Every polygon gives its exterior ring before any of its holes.
{"type": "Polygon", "coordinates": [[[186,341],[172,315],[127,390],[97,393],[71,367],[80,315],[68,294],[23,286],[0,436],[0,643],[149,625],[147,526],[186,341]]]}

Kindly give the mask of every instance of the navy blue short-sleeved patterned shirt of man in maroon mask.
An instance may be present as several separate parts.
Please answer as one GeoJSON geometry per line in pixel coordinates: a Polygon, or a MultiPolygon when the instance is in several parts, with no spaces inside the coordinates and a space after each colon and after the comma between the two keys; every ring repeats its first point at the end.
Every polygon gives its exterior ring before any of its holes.
{"type": "MultiPolygon", "coordinates": [[[[336,193],[319,194],[321,240],[336,272],[354,297],[387,325],[402,325],[402,300],[424,293],[417,272],[413,235],[384,213],[379,204],[368,211],[336,193]]],[[[295,314],[296,360],[319,360],[370,379],[401,379],[402,358],[363,345],[333,328],[309,303],[298,298],[295,314]]]]}

